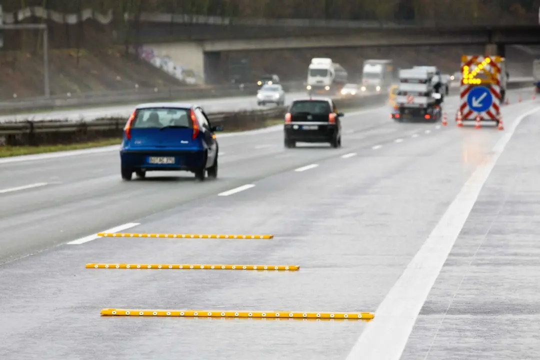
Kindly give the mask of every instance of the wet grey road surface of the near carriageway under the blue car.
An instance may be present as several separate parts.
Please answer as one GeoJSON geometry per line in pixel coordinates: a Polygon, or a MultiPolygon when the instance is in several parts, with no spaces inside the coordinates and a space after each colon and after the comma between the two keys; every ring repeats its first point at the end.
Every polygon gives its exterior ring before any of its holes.
{"type": "Polygon", "coordinates": [[[123,182],[117,148],[0,160],[0,358],[537,358],[540,102],[516,98],[504,131],[457,128],[453,97],[447,127],[394,123],[388,107],[346,114],[340,149],[285,149],[279,128],[221,136],[219,178],[202,183],[187,173],[123,182]],[[92,235],[109,229],[274,238],[92,235]],[[300,270],[85,269],[98,262],[300,270]]]}

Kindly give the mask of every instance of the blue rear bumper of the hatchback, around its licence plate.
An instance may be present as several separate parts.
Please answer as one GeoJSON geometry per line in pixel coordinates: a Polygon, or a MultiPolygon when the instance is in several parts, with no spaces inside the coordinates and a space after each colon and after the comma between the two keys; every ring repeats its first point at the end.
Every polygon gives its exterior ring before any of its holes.
{"type": "Polygon", "coordinates": [[[145,171],[195,171],[205,161],[204,150],[120,150],[122,167],[145,171]],[[150,158],[174,158],[174,164],[152,164],[150,158]]]}

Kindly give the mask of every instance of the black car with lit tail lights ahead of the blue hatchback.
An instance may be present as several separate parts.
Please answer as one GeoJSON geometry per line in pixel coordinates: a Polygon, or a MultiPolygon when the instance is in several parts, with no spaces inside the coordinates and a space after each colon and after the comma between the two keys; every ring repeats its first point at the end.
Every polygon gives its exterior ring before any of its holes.
{"type": "Polygon", "coordinates": [[[341,147],[341,120],[332,99],[299,99],[293,101],[285,114],[285,147],[296,142],[329,142],[341,147]]]}

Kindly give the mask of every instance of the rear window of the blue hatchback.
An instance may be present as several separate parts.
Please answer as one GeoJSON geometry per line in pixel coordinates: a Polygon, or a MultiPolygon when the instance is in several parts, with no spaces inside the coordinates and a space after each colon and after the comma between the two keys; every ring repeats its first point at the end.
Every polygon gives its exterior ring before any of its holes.
{"type": "Polygon", "coordinates": [[[187,108],[143,108],[137,111],[132,128],[152,128],[164,126],[192,127],[190,109],[187,108]]]}

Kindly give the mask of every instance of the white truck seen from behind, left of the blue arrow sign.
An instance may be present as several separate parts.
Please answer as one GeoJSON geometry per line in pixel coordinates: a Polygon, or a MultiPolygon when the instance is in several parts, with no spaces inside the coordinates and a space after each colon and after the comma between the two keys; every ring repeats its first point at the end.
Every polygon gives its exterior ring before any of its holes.
{"type": "Polygon", "coordinates": [[[437,76],[433,69],[426,67],[402,69],[397,88],[396,111],[392,117],[396,121],[441,119],[442,94],[435,90],[437,76]]]}

